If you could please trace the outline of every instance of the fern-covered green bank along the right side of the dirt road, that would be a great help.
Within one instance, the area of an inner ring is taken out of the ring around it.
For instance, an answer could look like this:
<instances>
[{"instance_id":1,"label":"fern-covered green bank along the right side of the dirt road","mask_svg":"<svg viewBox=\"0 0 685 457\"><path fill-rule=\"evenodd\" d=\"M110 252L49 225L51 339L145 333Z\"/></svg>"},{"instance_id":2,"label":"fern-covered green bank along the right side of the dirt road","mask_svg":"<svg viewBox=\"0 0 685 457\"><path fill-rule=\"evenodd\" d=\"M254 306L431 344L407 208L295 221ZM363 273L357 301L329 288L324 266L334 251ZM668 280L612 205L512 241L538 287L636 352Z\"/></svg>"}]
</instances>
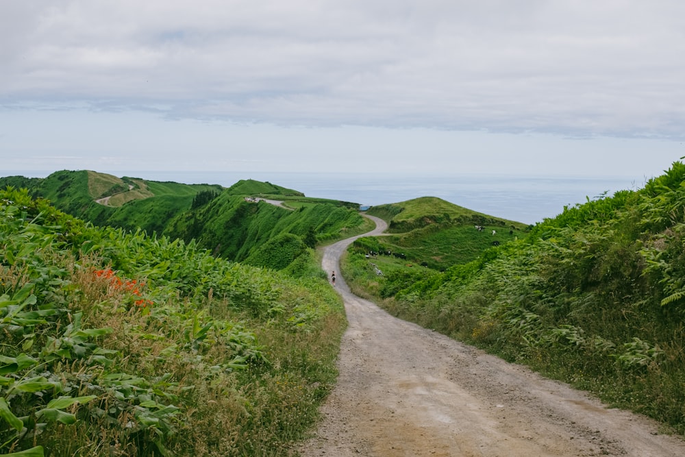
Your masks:
<instances>
[{"instance_id":1,"label":"fern-covered green bank along the right side of the dirt road","mask_svg":"<svg viewBox=\"0 0 685 457\"><path fill-rule=\"evenodd\" d=\"M362 252L384 240L360 240L343 271L353 289L403 319L682 433L684 183L685 165L675 162L641 190L564 208L530 233L444 271L381 264ZM393 207L384 208L386 217L401 214ZM410 219L405 226L421 225L420 216ZM408 254L425 249L411 236L403 236Z\"/></svg>"}]
</instances>

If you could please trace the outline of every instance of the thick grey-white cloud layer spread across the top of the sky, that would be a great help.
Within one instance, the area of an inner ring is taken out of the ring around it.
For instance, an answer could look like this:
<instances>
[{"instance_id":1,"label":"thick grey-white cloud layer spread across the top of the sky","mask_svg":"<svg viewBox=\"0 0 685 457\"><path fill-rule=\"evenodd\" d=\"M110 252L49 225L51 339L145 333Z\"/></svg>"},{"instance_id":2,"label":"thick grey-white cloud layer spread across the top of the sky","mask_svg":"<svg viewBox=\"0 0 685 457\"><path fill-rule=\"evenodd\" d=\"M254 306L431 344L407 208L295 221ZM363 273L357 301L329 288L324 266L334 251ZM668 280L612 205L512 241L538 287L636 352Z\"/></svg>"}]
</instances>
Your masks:
<instances>
[{"instance_id":1,"label":"thick grey-white cloud layer spread across the top of the sky","mask_svg":"<svg viewBox=\"0 0 685 457\"><path fill-rule=\"evenodd\" d=\"M679 1L25 3L0 5L5 106L684 136Z\"/></svg>"}]
</instances>

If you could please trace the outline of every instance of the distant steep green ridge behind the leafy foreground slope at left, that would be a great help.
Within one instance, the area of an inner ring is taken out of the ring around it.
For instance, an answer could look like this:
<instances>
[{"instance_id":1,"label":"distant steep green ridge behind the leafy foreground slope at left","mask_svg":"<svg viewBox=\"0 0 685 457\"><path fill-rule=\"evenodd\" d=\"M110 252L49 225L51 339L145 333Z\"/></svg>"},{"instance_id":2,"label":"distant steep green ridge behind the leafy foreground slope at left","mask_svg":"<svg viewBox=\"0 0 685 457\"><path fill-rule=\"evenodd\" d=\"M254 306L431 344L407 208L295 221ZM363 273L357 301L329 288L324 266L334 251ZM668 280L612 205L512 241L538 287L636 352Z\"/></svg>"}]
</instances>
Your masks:
<instances>
[{"instance_id":1,"label":"distant steep green ridge behind the leafy foreground slope at left","mask_svg":"<svg viewBox=\"0 0 685 457\"><path fill-rule=\"evenodd\" d=\"M311 199L255 180L222 188L58 171L45 179L0 178L0 188L5 184L26 186L34 197L49 199L58 209L95 225L142 230L186 243L197 240L215 256L273 269L288 267L316 243L369 227L356 203ZM285 201L290 210L258 199Z\"/></svg>"}]
</instances>

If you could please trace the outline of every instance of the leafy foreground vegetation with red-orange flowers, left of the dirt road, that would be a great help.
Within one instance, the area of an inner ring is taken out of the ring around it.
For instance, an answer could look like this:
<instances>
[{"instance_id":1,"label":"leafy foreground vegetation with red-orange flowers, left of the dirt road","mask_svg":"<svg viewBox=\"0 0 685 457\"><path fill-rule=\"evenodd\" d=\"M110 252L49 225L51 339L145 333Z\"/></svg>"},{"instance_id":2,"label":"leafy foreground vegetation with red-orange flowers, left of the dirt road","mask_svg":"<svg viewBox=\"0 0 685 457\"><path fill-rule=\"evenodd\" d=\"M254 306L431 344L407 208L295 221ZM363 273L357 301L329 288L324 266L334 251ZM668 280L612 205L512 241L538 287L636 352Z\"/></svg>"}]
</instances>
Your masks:
<instances>
[{"instance_id":1,"label":"leafy foreground vegetation with red-orange flowers, left of the dirt road","mask_svg":"<svg viewBox=\"0 0 685 457\"><path fill-rule=\"evenodd\" d=\"M285 455L336 377L345 317L299 279L0 192L0 452Z\"/></svg>"}]
</instances>

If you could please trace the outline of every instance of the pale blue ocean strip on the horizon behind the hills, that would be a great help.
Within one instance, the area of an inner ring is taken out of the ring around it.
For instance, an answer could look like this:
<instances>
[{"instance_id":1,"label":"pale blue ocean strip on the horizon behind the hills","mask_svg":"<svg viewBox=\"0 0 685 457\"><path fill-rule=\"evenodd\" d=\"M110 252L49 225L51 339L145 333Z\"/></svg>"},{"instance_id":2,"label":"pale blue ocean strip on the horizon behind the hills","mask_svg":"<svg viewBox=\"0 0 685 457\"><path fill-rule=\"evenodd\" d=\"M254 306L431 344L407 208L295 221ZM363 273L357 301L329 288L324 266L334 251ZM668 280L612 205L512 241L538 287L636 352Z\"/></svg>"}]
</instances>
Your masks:
<instances>
[{"instance_id":1,"label":"pale blue ocean strip on the horizon behind the hills","mask_svg":"<svg viewBox=\"0 0 685 457\"><path fill-rule=\"evenodd\" d=\"M253 179L299 190L307 197L338 199L362 206L397 203L418 197L439 197L464 208L534 224L555 217L564 206L584 203L618 190L642 188L634 177L540 177L518 175L432 175L384 173L269 173L220 171L114 171L116 176L153 181L232 186ZM45 177L49 173L7 173ZM6 175L7 175L6 174Z\"/></svg>"}]
</instances>

